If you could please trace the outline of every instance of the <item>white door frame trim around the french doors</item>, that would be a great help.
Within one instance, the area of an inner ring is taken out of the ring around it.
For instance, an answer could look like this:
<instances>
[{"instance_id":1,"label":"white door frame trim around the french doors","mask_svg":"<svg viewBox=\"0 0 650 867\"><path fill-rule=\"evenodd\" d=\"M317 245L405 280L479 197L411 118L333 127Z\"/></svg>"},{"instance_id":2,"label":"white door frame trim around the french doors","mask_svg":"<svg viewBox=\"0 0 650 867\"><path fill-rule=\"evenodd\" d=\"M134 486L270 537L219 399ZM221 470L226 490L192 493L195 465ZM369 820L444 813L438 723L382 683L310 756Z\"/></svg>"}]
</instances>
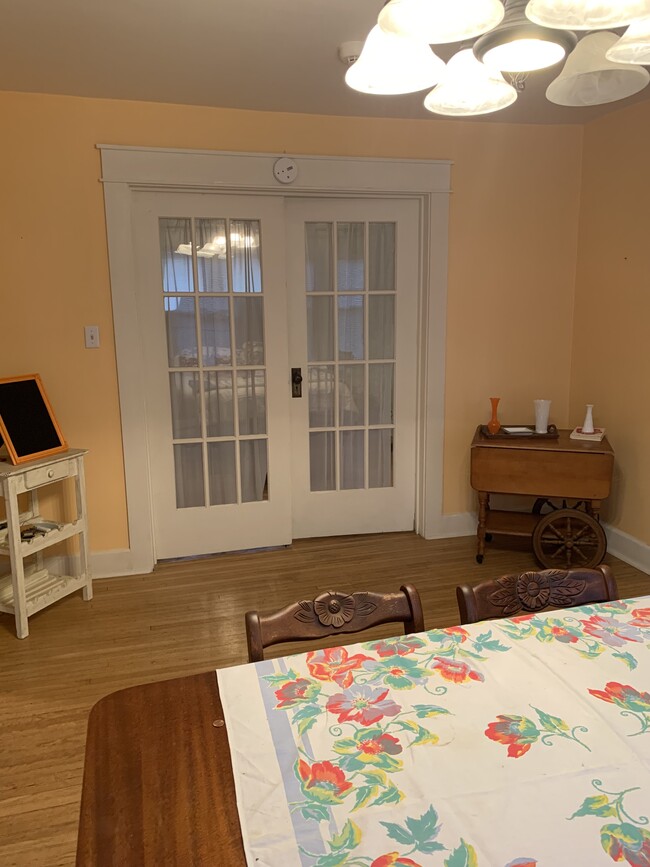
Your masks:
<instances>
[{"instance_id":1,"label":"white door frame trim around the french doors","mask_svg":"<svg viewBox=\"0 0 650 867\"><path fill-rule=\"evenodd\" d=\"M155 564L145 383L136 305L133 195L140 191L219 192L345 198L410 198L419 203L418 406L415 530L443 535L443 420L447 249L451 162L295 155L289 187L273 177L286 154L97 145L101 153L115 350L122 420L131 571Z\"/></svg>"}]
</instances>

